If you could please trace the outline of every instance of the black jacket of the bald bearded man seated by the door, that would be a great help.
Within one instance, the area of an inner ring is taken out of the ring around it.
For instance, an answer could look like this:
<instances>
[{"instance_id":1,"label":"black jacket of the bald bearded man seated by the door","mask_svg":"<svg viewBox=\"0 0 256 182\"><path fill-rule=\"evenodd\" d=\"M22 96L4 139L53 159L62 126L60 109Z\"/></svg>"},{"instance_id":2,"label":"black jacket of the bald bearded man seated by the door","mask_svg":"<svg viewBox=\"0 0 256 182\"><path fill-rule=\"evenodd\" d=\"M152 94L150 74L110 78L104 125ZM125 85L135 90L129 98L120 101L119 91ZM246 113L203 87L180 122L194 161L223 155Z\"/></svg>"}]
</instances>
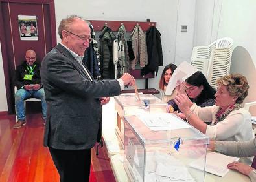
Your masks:
<instances>
[{"instance_id":1,"label":"black jacket of the bald bearded man seated by the door","mask_svg":"<svg viewBox=\"0 0 256 182\"><path fill-rule=\"evenodd\" d=\"M17 89L20 89L24 85L30 85L30 84L40 84L41 85L41 76L40 76L40 66L41 65L40 65L40 63L37 63L37 62L35 62L34 64L36 64L36 67L33 70L34 75L32 76L32 80L23 79L25 74L29 74L29 71L27 70L26 61L24 61L22 65L19 65L16 68L15 76L14 76L14 86L17 86Z\"/></svg>"}]
</instances>

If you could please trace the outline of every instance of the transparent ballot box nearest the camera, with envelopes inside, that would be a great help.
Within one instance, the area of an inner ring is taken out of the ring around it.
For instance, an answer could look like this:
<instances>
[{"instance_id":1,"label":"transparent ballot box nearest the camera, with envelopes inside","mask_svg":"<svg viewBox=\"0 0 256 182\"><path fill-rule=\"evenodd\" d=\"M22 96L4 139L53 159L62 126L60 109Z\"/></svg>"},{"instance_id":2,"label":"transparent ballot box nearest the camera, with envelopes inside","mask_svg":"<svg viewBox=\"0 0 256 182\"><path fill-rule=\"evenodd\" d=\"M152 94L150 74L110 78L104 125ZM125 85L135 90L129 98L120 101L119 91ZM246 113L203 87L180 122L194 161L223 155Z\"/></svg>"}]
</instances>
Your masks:
<instances>
[{"instance_id":1,"label":"transparent ballot box nearest the camera, with envelopes inside","mask_svg":"<svg viewBox=\"0 0 256 182\"><path fill-rule=\"evenodd\" d=\"M130 181L204 181L209 137L174 114L124 116Z\"/></svg>"}]
</instances>

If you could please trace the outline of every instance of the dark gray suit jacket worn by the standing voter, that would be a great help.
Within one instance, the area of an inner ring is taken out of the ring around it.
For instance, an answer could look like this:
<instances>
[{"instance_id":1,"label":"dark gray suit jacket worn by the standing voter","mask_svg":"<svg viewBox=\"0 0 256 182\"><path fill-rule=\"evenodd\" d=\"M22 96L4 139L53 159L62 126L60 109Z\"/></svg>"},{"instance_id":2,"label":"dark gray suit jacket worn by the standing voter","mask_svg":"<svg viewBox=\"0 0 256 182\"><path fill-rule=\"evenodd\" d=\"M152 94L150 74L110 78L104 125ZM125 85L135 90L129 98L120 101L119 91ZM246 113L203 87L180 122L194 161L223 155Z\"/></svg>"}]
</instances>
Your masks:
<instances>
[{"instance_id":1,"label":"dark gray suit jacket worn by the standing voter","mask_svg":"<svg viewBox=\"0 0 256 182\"><path fill-rule=\"evenodd\" d=\"M90 81L78 61L60 44L43 58L41 81L47 101L45 147L92 148L102 117L99 98L119 95L119 82Z\"/></svg>"}]
</instances>

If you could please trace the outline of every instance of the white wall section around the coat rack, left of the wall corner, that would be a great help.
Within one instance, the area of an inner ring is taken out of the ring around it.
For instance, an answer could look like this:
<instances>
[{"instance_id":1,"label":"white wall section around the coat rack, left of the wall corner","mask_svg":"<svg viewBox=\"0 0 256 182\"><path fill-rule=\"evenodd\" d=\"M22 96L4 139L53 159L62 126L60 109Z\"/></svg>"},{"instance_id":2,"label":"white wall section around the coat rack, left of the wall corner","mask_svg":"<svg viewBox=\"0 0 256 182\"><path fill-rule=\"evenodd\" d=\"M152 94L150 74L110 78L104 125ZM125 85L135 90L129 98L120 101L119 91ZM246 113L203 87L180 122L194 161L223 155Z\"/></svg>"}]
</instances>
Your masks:
<instances>
[{"instance_id":1,"label":"white wall section around the coat rack, left of the wall corner","mask_svg":"<svg viewBox=\"0 0 256 182\"><path fill-rule=\"evenodd\" d=\"M175 59L178 4L178 0L163 0L161 3L155 0L77 0L76 3L73 1L64 3L64 1L56 0L56 26L58 27L62 18L71 14L80 15L85 19L117 21L146 21L146 19L150 19L156 21L157 29L161 32L163 65L165 66L174 63ZM71 6L72 8L70 8ZM149 88L157 88L164 66L159 68L159 74L155 79L149 79ZM137 79L137 84L139 88L145 88L144 79Z\"/></svg>"}]
</instances>

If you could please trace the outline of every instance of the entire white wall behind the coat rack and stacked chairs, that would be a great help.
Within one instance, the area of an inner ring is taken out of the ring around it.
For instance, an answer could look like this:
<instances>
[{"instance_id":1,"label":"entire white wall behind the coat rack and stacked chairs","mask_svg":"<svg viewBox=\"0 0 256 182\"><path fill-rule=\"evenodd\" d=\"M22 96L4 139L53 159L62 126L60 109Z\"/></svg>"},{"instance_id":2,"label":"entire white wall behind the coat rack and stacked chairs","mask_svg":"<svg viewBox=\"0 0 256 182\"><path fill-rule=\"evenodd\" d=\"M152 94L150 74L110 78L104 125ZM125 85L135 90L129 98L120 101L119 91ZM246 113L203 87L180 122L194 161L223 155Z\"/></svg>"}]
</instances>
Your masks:
<instances>
[{"instance_id":1,"label":"entire white wall behind the coat rack and stacked chairs","mask_svg":"<svg viewBox=\"0 0 256 182\"><path fill-rule=\"evenodd\" d=\"M248 77L250 94L246 101L256 101L256 95L253 94L256 85L253 82L256 65L255 0L163 0L161 3L154 0L55 0L55 9L57 28L60 20L71 14L81 15L86 19L156 21L157 29L162 34L164 66L189 62L193 46L207 45L220 37L231 37L235 43L231 72L240 72ZM181 25L188 25L187 32L180 32ZM159 68L155 79L149 80L150 88L157 88L164 66ZM6 111L1 55L0 81L0 111ZM137 80L137 83L139 88L144 88L143 79Z\"/></svg>"}]
</instances>

